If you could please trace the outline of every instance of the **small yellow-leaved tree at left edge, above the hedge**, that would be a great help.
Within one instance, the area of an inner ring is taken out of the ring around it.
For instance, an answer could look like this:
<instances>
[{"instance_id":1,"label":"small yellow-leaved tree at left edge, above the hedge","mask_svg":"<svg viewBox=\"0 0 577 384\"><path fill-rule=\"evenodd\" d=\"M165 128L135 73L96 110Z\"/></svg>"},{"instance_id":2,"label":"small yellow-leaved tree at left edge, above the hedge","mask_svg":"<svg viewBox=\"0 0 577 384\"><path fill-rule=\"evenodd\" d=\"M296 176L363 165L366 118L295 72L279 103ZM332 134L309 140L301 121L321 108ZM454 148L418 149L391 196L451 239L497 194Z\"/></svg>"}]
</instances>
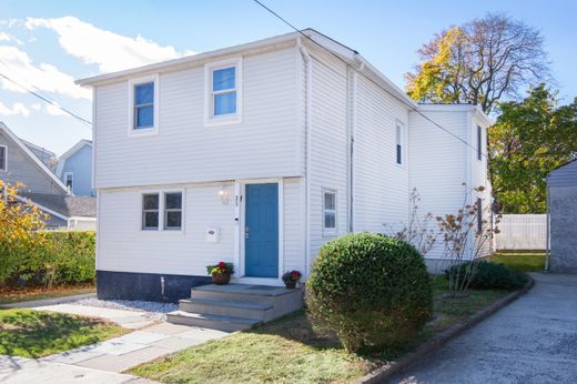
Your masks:
<instances>
[{"instance_id":1,"label":"small yellow-leaved tree at left edge, above the hedge","mask_svg":"<svg viewBox=\"0 0 577 384\"><path fill-rule=\"evenodd\" d=\"M33 231L44 228L48 215L18 198L23 184L0 180L0 284L12 273L20 250L33 241Z\"/></svg>"}]
</instances>

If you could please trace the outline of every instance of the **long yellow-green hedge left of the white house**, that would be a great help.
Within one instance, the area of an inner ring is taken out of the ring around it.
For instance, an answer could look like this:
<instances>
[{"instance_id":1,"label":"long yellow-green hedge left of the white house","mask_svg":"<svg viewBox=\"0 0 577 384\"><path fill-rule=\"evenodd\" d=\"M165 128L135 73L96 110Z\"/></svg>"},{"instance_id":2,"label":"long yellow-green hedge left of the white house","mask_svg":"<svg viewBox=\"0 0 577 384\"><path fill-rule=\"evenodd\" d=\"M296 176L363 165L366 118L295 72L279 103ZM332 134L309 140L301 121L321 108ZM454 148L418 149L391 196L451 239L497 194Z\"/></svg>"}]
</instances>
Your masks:
<instances>
[{"instance_id":1,"label":"long yellow-green hedge left of the white house","mask_svg":"<svg viewBox=\"0 0 577 384\"><path fill-rule=\"evenodd\" d=\"M0 243L0 286L51 286L95 279L94 232L36 232L29 243Z\"/></svg>"}]
</instances>

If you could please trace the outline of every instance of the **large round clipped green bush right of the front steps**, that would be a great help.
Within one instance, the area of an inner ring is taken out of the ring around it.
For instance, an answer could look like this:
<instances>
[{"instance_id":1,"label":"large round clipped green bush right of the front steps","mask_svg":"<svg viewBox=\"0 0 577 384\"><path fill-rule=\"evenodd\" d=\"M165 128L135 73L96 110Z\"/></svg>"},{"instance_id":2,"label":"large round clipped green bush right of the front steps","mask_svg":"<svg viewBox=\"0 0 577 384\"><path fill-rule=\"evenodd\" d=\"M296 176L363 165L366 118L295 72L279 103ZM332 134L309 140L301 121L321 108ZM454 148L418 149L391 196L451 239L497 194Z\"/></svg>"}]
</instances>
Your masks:
<instances>
[{"instance_id":1,"label":"large round clipped green bush right of the front steps","mask_svg":"<svg viewBox=\"0 0 577 384\"><path fill-rule=\"evenodd\" d=\"M353 233L326 243L306 284L308 316L352 352L403 346L433 312L418 252L403 241Z\"/></svg>"}]
</instances>

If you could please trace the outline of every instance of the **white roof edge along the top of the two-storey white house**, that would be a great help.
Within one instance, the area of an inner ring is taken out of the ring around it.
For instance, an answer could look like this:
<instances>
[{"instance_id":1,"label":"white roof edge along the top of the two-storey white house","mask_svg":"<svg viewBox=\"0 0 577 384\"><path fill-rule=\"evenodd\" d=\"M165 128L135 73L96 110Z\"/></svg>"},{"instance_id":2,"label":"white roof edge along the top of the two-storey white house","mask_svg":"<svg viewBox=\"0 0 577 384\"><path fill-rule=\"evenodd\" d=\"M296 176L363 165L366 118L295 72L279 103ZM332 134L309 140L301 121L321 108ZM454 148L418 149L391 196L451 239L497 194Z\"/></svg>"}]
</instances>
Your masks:
<instances>
[{"instance_id":1,"label":"white roof edge along the top of the two-storey white house","mask_svg":"<svg viewBox=\"0 0 577 384\"><path fill-rule=\"evenodd\" d=\"M304 36L304 39L303 39ZM92 78L80 79L77 81L78 84L83 87L94 87L101 85L118 81L128 80L133 78L134 75L146 75L152 73L162 73L162 72L172 72L181 69L194 67L202 64L207 61L212 61L217 57L239 54L241 52L252 52L260 51L267 47L276 47L283 46L287 43L300 44L302 42L308 43L307 40L312 40L313 42L310 44L314 46L318 44L330 52L337 55L340 59L347 62L350 65L355 68L357 71L367 75L372 80L379 83L381 87L393 92L397 98L399 98L403 102L411 105L411 108L416 108L417 103L412 100L401 88L395 85L387 77L381 73L373 64L371 64L366 59L364 59L357 51L315 31L314 29L307 28L298 32L285 33L263 40L257 40L253 42L249 42L245 44L217 49L214 51L209 51L204 53L198 53L193 55L183 57L180 59L168 60L159 63L153 63L149 65L143 65L134 69L129 69L124 71L118 71L112 73L105 73Z\"/></svg>"}]
</instances>

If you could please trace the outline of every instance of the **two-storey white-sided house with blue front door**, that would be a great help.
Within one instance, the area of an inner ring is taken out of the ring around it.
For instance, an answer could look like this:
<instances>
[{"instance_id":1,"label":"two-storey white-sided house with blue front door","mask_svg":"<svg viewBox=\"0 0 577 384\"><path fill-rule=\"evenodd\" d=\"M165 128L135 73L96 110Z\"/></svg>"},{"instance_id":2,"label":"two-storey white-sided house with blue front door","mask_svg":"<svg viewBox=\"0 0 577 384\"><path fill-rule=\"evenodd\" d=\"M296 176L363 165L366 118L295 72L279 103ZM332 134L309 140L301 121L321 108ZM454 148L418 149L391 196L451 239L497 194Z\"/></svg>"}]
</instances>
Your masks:
<instances>
[{"instance_id":1,"label":"two-storey white-sided house with blue front door","mask_svg":"<svg viewBox=\"0 0 577 384\"><path fill-rule=\"evenodd\" d=\"M79 81L94 90L100 297L190 296L221 260L240 283L306 277L325 242L407 222L413 188L423 213L456 212L464 182L488 204L479 108L419 105L303 33L315 42L295 32Z\"/></svg>"}]
</instances>

